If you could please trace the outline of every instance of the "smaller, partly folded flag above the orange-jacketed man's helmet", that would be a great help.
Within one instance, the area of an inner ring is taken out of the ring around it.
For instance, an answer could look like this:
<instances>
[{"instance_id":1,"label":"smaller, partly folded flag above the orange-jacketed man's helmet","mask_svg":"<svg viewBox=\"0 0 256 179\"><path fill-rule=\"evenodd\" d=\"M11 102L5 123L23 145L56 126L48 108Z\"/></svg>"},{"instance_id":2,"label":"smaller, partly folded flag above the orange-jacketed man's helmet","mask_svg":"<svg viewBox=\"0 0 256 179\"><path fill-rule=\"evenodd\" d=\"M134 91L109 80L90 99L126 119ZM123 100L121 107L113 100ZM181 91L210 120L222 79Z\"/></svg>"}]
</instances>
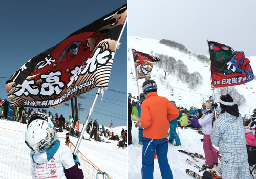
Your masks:
<instances>
[{"instance_id":1,"label":"smaller, partly folded flag above the orange-jacketed man's helmet","mask_svg":"<svg viewBox=\"0 0 256 179\"><path fill-rule=\"evenodd\" d=\"M145 78L145 80L149 80L153 64L160 61L160 59L156 56L142 53L134 49L132 49L132 51L136 70L136 79Z\"/></svg>"}]
</instances>

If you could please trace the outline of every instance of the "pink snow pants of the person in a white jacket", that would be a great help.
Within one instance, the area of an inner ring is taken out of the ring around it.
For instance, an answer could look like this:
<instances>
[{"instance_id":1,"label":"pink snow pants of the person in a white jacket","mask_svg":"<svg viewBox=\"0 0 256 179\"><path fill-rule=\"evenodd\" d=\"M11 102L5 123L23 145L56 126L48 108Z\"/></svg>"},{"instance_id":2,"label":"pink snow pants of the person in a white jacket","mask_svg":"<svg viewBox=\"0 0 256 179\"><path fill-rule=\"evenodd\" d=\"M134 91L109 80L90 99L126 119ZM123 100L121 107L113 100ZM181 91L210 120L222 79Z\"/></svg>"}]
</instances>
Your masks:
<instances>
[{"instance_id":1,"label":"pink snow pants of the person in a white jacket","mask_svg":"<svg viewBox=\"0 0 256 179\"><path fill-rule=\"evenodd\" d=\"M212 146L210 135L204 134L204 154L205 154L205 164L214 165L214 163L218 163L218 156L216 151L214 151L214 147Z\"/></svg>"}]
</instances>

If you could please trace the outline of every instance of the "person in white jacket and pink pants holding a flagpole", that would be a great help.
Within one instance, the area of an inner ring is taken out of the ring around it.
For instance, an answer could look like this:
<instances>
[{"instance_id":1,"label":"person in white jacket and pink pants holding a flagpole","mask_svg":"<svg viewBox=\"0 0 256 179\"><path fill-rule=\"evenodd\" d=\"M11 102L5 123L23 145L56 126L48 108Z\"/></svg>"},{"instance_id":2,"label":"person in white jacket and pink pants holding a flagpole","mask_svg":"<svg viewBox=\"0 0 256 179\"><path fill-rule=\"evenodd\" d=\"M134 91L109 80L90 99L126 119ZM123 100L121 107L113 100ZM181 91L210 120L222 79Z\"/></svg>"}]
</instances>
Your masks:
<instances>
[{"instance_id":1,"label":"person in white jacket and pink pants holding a flagpole","mask_svg":"<svg viewBox=\"0 0 256 179\"><path fill-rule=\"evenodd\" d=\"M210 134L212 130L212 119L214 117L214 113L212 113L211 108L206 107L203 112L203 116L198 119L198 123L202 126L202 132L204 134L204 154L205 154L205 164L203 168L212 169L214 165L218 165L218 156L216 151L214 151L214 147L212 146L210 140Z\"/></svg>"}]
</instances>

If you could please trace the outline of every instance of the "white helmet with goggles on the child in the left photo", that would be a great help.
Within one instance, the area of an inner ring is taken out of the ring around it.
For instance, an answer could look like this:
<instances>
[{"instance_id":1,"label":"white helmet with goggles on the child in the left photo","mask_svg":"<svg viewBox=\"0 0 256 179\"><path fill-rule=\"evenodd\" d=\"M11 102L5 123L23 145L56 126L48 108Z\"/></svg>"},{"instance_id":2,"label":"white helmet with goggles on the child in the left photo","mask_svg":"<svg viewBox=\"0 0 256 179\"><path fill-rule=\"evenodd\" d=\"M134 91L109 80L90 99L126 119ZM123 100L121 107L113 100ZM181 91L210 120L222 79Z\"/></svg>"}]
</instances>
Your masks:
<instances>
[{"instance_id":1,"label":"white helmet with goggles on the child in the left photo","mask_svg":"<svg viewBox=\"0 0 256 179\"><path fill-rule=\"evenodd\" d=\"M34 113L28 119L25 143L39 153L48 151L57 140L57 132L50 117Z\"/></svg>"}]
</instances>

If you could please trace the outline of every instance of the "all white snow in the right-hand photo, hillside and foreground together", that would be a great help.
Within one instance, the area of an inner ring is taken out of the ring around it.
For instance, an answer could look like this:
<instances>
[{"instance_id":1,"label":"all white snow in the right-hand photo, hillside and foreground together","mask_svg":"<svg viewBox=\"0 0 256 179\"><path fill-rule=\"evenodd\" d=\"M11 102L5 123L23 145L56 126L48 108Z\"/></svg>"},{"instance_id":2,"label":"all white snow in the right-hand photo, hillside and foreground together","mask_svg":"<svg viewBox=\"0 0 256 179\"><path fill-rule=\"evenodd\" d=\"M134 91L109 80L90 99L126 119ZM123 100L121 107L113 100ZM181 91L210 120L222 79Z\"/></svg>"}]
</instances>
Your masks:
<instances>
[{"instance_id":1,"label":"all white snow in the right-hand photo, hillside and foreground together","mask_svg":"<svg viewBox=\"0 0 256 179\"><path fill-rule=\"evenodd\" d=\"M164 69L157 68L156 65L153 66L153 70L151 73L151 79L155 80L158 86L158 95L165 96L169 100L174 100L177 106L183 106L189 108L190 106L195 106L197 108L202 108L203 97L205 100L208 100L211 92L210 85L210 73L209 67L205 67L209 65L208 63L201 63L195 57L190 57L186 54L179 52L178 50L172 49L168 46L158 43L158 40L141 38L135 36L128 36L128 92L132 93L132 96L138 96L139 93L142 93L142 84L145 81L144 79L138 80L138 85L135 80L135 68L133 62L133 55L131 48L148 53L153 54L167 54L168 56L174 57L176 60L182 60L189 69L190 73L198 71L203 76L202 84L196 86L194 89L189 91L189 87L187 83L179 81L177 83L177 77L169 74L166 76L166 80L161 83L159 79L159 75L164 75ZM151 53L153 51L153 53ZM207 54L206 52L205 54ZM251 62L252 69L256 70L256 57L247 57ZM161 59L160 59L161 60ZM166 87L168 84L171 87ZM246 89L248 87L248 89ZM254 87L253 89L249 89L249 87ZM239 93L242 93L247 100L246 104L243 106L239 106L239 110L241 115L252 114L252 110L256 108L256 94L252 93L252 91L256 91L256 81L253 80L246 85L236 86ZM138 92L139 88L139 92ZM174 96L170 96L171 89L173 89ZM202 95L200 95L200 93ZM181 96L181 100L179 100L179 95ZM218 97L215 96L215 99L218 101ZM132 99L133 100L133 99ZM186 159L193 161L188 155L184 153L178 152L178 150L186 150L189 152L197 152L199 154L204 155L203 150L203 142L200 139L203 138L203 135L197 133L197 131L192 130L191 128L182 130L181 128L176 129L180 141L181 146L169 145L168 148L168 162L173 172L174 178L191 178L191 176L185 173L186 169L191 169L198 174L203 172L199 172L198 169L186 163ZM129 178L141 178L141 167L142 167L142 145L138 144L138 128L132 127L132 145L128 147L128 156L129 156ZM214 146L215 147L215 146ZM218 147L215 147L218 150ZM154 160L154 178L161 178L159 165L157 163L157 159ZM202 166L205 161L198 159L196 162L199 166ZM220 161L219 161L220 163Z\"/></svg>"}]
</instances>

